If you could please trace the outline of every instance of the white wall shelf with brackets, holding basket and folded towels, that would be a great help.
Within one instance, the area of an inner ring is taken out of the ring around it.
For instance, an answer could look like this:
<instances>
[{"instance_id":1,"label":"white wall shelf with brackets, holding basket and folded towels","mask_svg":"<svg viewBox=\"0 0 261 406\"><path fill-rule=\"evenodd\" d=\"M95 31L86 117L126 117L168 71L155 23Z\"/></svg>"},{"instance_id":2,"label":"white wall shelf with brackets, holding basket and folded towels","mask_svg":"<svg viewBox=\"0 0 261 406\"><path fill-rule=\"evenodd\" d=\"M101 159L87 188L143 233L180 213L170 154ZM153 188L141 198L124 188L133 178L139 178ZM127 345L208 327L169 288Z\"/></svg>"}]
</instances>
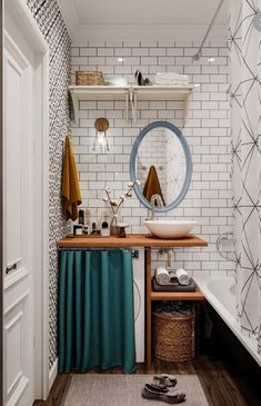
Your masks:
<instances>
[{"instance_id":1,"label":"white wall shelf with brackets, holding basket and folded towels","mask_svg":"<svg viewBox=\"0 0 261 406\"><path fill-rule=\"evenodd\" d=\"M131 106L132 119L135 121L137 105L139 100L172 100L183 101L184 121L188 112L189 97L193 85L188 86L70 86L74 120L79 118L79 101L88 100L124 100L126 119L129 119L129 103Z\"/></svg>"}]
</instances>

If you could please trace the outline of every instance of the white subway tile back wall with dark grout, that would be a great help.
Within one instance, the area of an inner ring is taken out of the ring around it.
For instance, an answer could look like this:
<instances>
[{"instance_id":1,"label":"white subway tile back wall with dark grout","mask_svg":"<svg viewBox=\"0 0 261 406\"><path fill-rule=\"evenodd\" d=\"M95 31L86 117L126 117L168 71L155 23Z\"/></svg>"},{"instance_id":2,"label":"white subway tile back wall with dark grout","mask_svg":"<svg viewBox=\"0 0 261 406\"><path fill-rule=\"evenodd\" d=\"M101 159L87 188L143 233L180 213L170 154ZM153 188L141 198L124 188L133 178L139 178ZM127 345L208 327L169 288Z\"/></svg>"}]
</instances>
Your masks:
<instances>
[{"instance_id":1,"label":"white subway tile back wall with dark grout","mask_svg":"<svg viewBox=\"0 0 261 406\"><path fill-rule=\"evenodd\" d=\"M79 122L72 123L72 142L78 162L82 207L99 221L106 212L104 188L110 185L118 198L127 190L132 145L148 123L167 120L178 126L185 136L192 152L193 176L188 195L168 217L193 219L199 224L194 232L208 240L204 248L174 250L173 268L184 267L190 275L228 275L234 264L217 252L219 234L232 229L231 151L228 49L222 41L209 42L202 58L193 61L197 44L188 41L86 41L72 44L72 83L77 70L102 70L103 73L124 76L134 83L134 72L140 69L153 81L154 73L175 71L189 75L198 83L191 96L184 128L182 102L138 102L137 122L124 120L123 101L81 101ZM209 62L208 57L214 57ZM119 61L118 58L123 58ZM92 151L94 120L106 117L110 122L108 141L110 151ZM135 196L123 204L121 216L130 224L129 232L144 232L143 219L148 210ZM232 247L228 247L232 250ZM153 251L152 268L165 265L165 254Z\"/></svg>"}]
</instances>

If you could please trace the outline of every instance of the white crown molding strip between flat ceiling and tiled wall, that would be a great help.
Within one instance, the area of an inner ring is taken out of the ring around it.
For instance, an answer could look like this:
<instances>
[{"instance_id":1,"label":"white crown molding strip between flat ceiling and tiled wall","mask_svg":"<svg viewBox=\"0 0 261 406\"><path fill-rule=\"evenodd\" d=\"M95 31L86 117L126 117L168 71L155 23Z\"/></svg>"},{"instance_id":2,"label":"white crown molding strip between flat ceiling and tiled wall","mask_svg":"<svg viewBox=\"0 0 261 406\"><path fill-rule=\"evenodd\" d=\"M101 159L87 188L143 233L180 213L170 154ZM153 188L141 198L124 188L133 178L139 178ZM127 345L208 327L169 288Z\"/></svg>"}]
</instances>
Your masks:
<instances>
[{"instance_id":1,"label":"white crown molding strip between flat ceiling and tiled wall","mask_svg":"<svg viewBox=\"0 0 261 406\"><path fill-rule=\"evenodd\" d=\"M72 33L72 40L80 39L122 39L122 40L202 40L207 26L78 26ZM214 26L209 34L209 40L227 40L228 27Z\"/></svg>"}]
</instances>

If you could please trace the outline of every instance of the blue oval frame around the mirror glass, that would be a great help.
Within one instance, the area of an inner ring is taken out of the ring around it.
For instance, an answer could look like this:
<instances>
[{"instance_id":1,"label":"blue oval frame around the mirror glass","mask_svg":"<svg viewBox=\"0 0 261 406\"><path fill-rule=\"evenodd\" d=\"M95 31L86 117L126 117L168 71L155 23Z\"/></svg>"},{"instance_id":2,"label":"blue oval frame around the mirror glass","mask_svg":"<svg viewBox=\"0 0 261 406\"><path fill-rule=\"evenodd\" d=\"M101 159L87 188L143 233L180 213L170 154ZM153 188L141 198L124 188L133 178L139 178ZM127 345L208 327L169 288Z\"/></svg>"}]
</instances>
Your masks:
<instances>
[{"instance_id":1,"label":"blue oval frame around the mirror glass","mask_svg":"<svg viewBox=\"0 0 261 406\"><path fill-rule=\"evenodd\" d=\"M182 186L182 189L181 189L179 196L173 201L171 201L169 205L167 205L164 207L155 207L157 212L167 212L167 211L173 210L183 200L183 198L185 197L185 195L189 190L189 186L190 186L190 181L191 181L191 177L192 177L192 157L191 157L190 148L189 148L189 145L188 145L183 133L180 131L180 129L178 127L175 127L174 125L172 125L171 122L168 122L168 121L154 121L154 122L151 122L150 125L145 126L141 130L141 132L137 137L137 139L132 146L132 150L131 150L130 178L133 182L137 180L137 158L138 158L138 151L139 151L140 143L142 142L143 138L148 135L148 132L150 132L151 130L153 130L158 127L163 127L163 128L169 129L179 138L179 140L182 145L183 151L184 151L184 156L185 156L185 167L187 167L185 179L184 179L184 184ZM140 187L138 185L134 185L133 189L134 189L134 192L135 192L138 199L140 200L140 202L143 206L145 206L148 209L151 210L152 209L151 202L144 198L144 196L142 195L142 191L140 190Z\"/></svg>"}]
</instances>

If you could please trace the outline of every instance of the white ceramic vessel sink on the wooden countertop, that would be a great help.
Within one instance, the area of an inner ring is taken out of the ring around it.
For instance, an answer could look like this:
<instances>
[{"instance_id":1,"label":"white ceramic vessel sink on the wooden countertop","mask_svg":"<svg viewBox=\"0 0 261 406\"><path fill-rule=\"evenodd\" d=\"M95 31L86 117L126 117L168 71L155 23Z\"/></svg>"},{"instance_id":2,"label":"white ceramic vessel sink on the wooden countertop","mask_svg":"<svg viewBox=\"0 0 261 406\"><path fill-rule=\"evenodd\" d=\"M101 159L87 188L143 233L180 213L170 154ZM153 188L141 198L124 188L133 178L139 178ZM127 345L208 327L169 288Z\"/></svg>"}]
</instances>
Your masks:
<instances>
[{"instance_id":1,"label":"white ceramic vessel sink on the wooden countertop","mask_svg":"<svg viewBox=\"0 0 261 406\"><path fill-rule=\"evenodd\" d=\"M182 238L189 234L198 221L187 220L144 220L145 227L160 238Z\"/></svg>"}]
</instances>

